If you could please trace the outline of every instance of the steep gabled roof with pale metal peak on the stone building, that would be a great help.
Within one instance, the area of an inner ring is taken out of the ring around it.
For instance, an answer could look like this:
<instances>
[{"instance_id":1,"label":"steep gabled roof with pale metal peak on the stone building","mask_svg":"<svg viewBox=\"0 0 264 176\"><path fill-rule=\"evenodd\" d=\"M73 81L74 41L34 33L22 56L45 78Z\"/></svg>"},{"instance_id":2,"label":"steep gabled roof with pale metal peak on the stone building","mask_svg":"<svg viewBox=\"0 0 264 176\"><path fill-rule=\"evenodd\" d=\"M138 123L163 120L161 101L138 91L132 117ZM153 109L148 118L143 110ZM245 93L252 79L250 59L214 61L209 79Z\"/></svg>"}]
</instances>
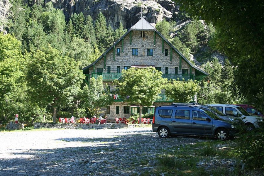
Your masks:
<instances>
[{"instance_id":1,"label":"steep gabled roof with pale metal peak on the stone building","mask_svg":"<svg viewBox=\"0 0 264 176\"><path fill-rule=\"evenodd\" d=\"M144 26L145 25L145 26ZM145 28L149 28L149 29L145 29ZM159 33L148 21L146 21L144 18L141 18L141 20L139 20L134 26L132 26L121 38L119 38L110 48L108 48L97 60L95 60L92 64L88 65L87 67L84 67L82 70L85 71L87 69L89 69L90 67L92 67L94 64L96 64L101 58L104 57L104 55L106 55L115 45L117 45L122 38L124 38L128 33L130 33L130 31L155 31L162 39L164 39L164 41L170 46L172 47L172 49L183 58L183 60L185 60L188 65L190 65L192 68L195 69L195 72L198 75L208 75L207 72L204 72L203 70L195 67L194 65L192 65L192 63L182 55L182 53L180 53L180 51L178 51L161 33ZM196 74L195 74L196 75Z\"/></svg>"}]
</instances>

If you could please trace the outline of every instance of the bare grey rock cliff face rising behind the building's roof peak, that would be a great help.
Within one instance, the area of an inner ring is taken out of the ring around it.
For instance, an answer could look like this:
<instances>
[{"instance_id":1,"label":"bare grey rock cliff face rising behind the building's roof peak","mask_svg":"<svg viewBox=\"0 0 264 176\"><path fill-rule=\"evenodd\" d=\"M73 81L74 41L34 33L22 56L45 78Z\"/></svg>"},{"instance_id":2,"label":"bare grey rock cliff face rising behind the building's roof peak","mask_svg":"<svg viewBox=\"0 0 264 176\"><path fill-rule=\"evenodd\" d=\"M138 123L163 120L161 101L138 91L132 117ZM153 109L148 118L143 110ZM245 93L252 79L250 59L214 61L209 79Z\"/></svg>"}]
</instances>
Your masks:
<instances>
[{"instance_id":1,"label":"bare grey rock cliff face rising behind the building's roof peak","mask_svg":"<svg viewBox=\"0 0 264 176\"><path fill-rule=\"evenodd\" d=\"M45 0L45 4L49 1L56 9L63 10L66 19L79 12L96 19L98 13L102 12L113 28L117 28L119 22L125 28L130 28L141 17L141 10L142 16L150 23L172 18L176 11L175 3L171 0Z\"/></svg>"}]
</instances>

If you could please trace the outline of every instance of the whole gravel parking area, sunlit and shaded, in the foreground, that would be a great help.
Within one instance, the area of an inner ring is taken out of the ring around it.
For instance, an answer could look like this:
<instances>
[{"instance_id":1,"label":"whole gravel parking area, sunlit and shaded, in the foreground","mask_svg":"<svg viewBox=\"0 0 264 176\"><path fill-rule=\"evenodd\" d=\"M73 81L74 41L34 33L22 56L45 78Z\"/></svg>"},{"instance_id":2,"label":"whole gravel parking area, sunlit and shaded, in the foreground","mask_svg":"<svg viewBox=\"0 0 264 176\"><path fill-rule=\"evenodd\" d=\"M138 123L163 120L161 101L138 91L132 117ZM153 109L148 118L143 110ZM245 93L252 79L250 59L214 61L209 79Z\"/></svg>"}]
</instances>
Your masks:
<instances>
[{"instance_id":1,"label":"whole gravel parking area, sunlit and shaded, in the foreground","mask_svg":"<svg viewBox=\"0 0 264 176\"><path fill-rule=\"evenodd\" d=\"M204 141L160 139L148 128L0 133L0 175L141 175L166 150Z\"/></svg>"}]
</instances>

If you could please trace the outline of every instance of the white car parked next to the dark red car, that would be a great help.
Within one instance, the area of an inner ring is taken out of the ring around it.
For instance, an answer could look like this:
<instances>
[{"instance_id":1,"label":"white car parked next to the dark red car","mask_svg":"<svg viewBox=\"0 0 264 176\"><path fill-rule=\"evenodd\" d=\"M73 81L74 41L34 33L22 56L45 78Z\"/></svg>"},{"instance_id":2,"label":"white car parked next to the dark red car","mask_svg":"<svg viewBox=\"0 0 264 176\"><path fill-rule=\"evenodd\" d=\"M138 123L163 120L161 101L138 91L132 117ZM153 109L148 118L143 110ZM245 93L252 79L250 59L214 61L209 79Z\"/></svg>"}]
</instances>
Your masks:
<instances>
[{"instance_id":1,"label":"white car parked next to the dark red car","mask_svg":"<svg viewBox=\"0 0 264 176\"><path fill-rule=\"evenodd\" d=\"M243 109L240 106L231 105L231 104L208 104L208 105L218 109L219 111L221 111L226 115L241 118L248 127L248 130L253 130L253 128L260 128L260 126L264 126L262 117L248 114L248 112L245 111L245 109Z\"/></svg>"}]
</instances>

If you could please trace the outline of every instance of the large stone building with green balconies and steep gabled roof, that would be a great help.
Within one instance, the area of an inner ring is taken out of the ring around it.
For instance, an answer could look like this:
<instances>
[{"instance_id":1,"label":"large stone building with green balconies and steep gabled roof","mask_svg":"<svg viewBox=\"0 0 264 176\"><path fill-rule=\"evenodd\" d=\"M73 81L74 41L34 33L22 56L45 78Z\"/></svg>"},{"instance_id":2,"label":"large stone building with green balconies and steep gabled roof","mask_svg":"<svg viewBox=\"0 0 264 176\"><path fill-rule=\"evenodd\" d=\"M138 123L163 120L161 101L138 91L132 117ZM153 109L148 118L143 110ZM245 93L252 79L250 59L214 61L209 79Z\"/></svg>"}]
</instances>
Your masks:
<instances>
[{"instance_id":1,"label":"large stone building with green balconies and steep gabled roof","mask_svg":"<svg viewBox=\"0 0 264 176\"><path fill-rule=\"evenodd\" d=\"M132 26L114 45L106 50L91 65L84 67L85 81L98 76L103 77L103 82L108 84L110 92L116 90L114 79L121 77L122 70L130 67L155 67L163 72L163 78L188 80L202 79L208 74L187 60L171 43L166 40L145 19L141 19ZM104 109L109 119L128 118L133 113L139 113L139 107L127 105L118 95L113 95L114 104ZM167 99L165 94L159 94L153 106L143 107L143 114L154 112L156 106L168 105L172 99Z\"/></svg>"}]
</instances>

